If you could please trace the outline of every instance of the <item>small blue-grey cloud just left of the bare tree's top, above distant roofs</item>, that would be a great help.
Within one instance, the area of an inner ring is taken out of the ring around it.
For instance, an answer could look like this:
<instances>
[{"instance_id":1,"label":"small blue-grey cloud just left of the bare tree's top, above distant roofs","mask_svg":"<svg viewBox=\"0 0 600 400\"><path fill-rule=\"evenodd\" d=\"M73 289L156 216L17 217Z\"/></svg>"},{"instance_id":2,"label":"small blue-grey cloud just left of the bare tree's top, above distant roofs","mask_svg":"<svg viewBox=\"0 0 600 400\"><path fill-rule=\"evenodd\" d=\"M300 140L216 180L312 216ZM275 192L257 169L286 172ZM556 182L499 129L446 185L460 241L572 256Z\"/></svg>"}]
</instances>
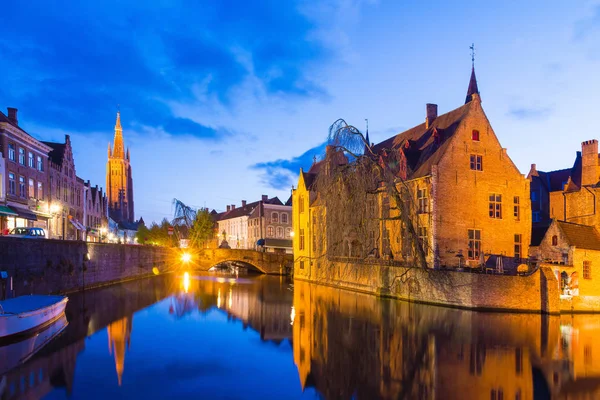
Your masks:
<instances>
[{"instance_id":1,"label":"small blue-grey cloud just left of the bare tree's top, above distant roofs","mask_svg":"<svg viewBox=\"0 0 600 400\"><path fill-rule=\"evenodd\" d=\"M261 181L277 190L290 188L296 184L296 178L300 168L305 171L310 168L315 159L319 159L325 153L326 143L311 148L298 157L289 160L278 159L275 161L261 162L250 168L261 171Z\"/></svg>"}]
</instances>

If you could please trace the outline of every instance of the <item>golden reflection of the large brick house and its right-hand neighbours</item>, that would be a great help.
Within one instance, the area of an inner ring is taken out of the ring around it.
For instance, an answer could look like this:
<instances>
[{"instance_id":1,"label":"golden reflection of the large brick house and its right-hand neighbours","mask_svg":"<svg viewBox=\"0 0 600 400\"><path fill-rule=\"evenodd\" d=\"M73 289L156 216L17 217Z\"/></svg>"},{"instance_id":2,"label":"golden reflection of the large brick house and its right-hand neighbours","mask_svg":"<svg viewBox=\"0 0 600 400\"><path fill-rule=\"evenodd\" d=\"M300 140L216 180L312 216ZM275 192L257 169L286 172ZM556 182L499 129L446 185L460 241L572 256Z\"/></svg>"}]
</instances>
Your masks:
<instances>
[{"instance_id":1,"label":"golden reflection of the large brick house and its right-hand neighbours","mask_svg":"<svg viewBox=\"0 0 600 400\"><path fill-rule=\"evenodd\" d=\"M300 383L327 399L600 398L600 316L475 313L294 285Z\"/></svg>"}]
</instances>

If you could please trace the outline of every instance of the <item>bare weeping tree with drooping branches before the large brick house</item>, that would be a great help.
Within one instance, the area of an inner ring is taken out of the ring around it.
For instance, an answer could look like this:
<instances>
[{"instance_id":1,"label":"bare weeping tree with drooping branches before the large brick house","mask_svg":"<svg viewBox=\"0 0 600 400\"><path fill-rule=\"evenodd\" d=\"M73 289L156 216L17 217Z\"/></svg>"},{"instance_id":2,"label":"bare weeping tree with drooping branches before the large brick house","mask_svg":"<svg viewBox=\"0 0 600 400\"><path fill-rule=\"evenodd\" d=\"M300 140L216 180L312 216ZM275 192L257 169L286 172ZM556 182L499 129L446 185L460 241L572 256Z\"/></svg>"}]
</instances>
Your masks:
<instances>
[{"instance_id":1,"label":"bare weeping tree with drooping branches before the large brick house","mask_svg":"<svg viewBox=\"0 0 600 400\"><path fill-rule=\"evenodd\" d=\"M419 236L420 220L414 187L401 146L379 147L343 119L329 128L327 152L315 190L323 224L322 255L327 257L394 259L401 246L404 266L427 267L428 240ZM347 158L350 162L347 162ZM396 241L392 243L391 239Z\"/></svg>"}]
</instances>

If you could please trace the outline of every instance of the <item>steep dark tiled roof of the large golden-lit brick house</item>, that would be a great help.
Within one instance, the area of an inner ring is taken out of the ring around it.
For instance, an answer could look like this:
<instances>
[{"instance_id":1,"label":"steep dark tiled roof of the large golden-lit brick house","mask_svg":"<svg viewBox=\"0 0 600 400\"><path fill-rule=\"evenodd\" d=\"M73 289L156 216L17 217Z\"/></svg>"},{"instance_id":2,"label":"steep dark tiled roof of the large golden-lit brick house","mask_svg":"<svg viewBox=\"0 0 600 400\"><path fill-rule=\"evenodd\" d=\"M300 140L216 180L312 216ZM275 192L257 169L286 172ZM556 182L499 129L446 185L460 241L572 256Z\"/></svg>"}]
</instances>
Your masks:
<instances>
[{"instance_id":1,"label":"steep dark tiled roof of the large golden-lit brick house","mask_svg":"<svg viewBox=\"0 0 600 400\"><path fill-rule=\"evenodd\" d=\"M384 149L402 148L409 170L407 178L429 175L431 167L442 159L450 139L471 107L473 102L438 116L429 127L422 123L399 133L373 146L373 151L380 153Z\"/></svg>"}]
</instances>

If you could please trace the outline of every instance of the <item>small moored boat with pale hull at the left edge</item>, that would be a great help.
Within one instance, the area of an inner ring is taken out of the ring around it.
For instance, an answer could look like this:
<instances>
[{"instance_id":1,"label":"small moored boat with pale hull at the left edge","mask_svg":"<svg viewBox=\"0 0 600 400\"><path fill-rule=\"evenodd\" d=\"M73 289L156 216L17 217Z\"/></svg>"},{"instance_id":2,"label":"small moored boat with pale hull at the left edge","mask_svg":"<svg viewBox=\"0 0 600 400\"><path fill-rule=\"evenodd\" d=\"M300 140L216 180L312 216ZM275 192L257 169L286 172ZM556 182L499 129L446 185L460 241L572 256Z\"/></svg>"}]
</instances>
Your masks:
<instances>
[{"instance_id":1,"label":"small moored boat with pale hull at the left edge","mask_svg":"<svg viewBox=\"0 0 600 400\"><path fill-rule=\"evenodd\" d=\"M20 296L0 301L0 341L42 329L60 318L69 299L66 296Z\"/></svg>"}]
</instances>

